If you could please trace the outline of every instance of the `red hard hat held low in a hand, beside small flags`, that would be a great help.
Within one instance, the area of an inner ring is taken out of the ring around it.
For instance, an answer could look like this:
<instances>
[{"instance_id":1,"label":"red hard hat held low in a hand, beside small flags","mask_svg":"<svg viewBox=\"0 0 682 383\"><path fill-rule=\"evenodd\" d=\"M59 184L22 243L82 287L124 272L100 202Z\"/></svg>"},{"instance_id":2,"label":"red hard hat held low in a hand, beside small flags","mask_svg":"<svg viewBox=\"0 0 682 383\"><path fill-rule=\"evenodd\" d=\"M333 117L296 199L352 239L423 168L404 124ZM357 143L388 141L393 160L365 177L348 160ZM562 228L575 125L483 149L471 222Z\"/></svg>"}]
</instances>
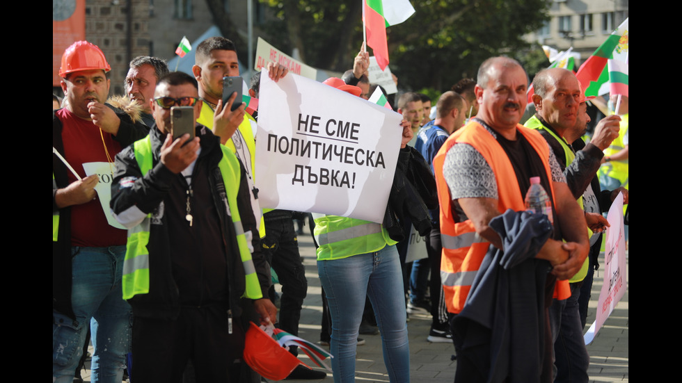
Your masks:
<instances>
[{"instance_id":1,"label":"red hard hat held low in a hand, beside small flags","mask_svg":"<svg viewBox=\"0 0 682 383\"><path fill-rule=\"evenodd\" d=\"M303 364L253 322L244 343L244 361L265 379L283 380L294 368Z\"/></svg>"}]
</instances>

